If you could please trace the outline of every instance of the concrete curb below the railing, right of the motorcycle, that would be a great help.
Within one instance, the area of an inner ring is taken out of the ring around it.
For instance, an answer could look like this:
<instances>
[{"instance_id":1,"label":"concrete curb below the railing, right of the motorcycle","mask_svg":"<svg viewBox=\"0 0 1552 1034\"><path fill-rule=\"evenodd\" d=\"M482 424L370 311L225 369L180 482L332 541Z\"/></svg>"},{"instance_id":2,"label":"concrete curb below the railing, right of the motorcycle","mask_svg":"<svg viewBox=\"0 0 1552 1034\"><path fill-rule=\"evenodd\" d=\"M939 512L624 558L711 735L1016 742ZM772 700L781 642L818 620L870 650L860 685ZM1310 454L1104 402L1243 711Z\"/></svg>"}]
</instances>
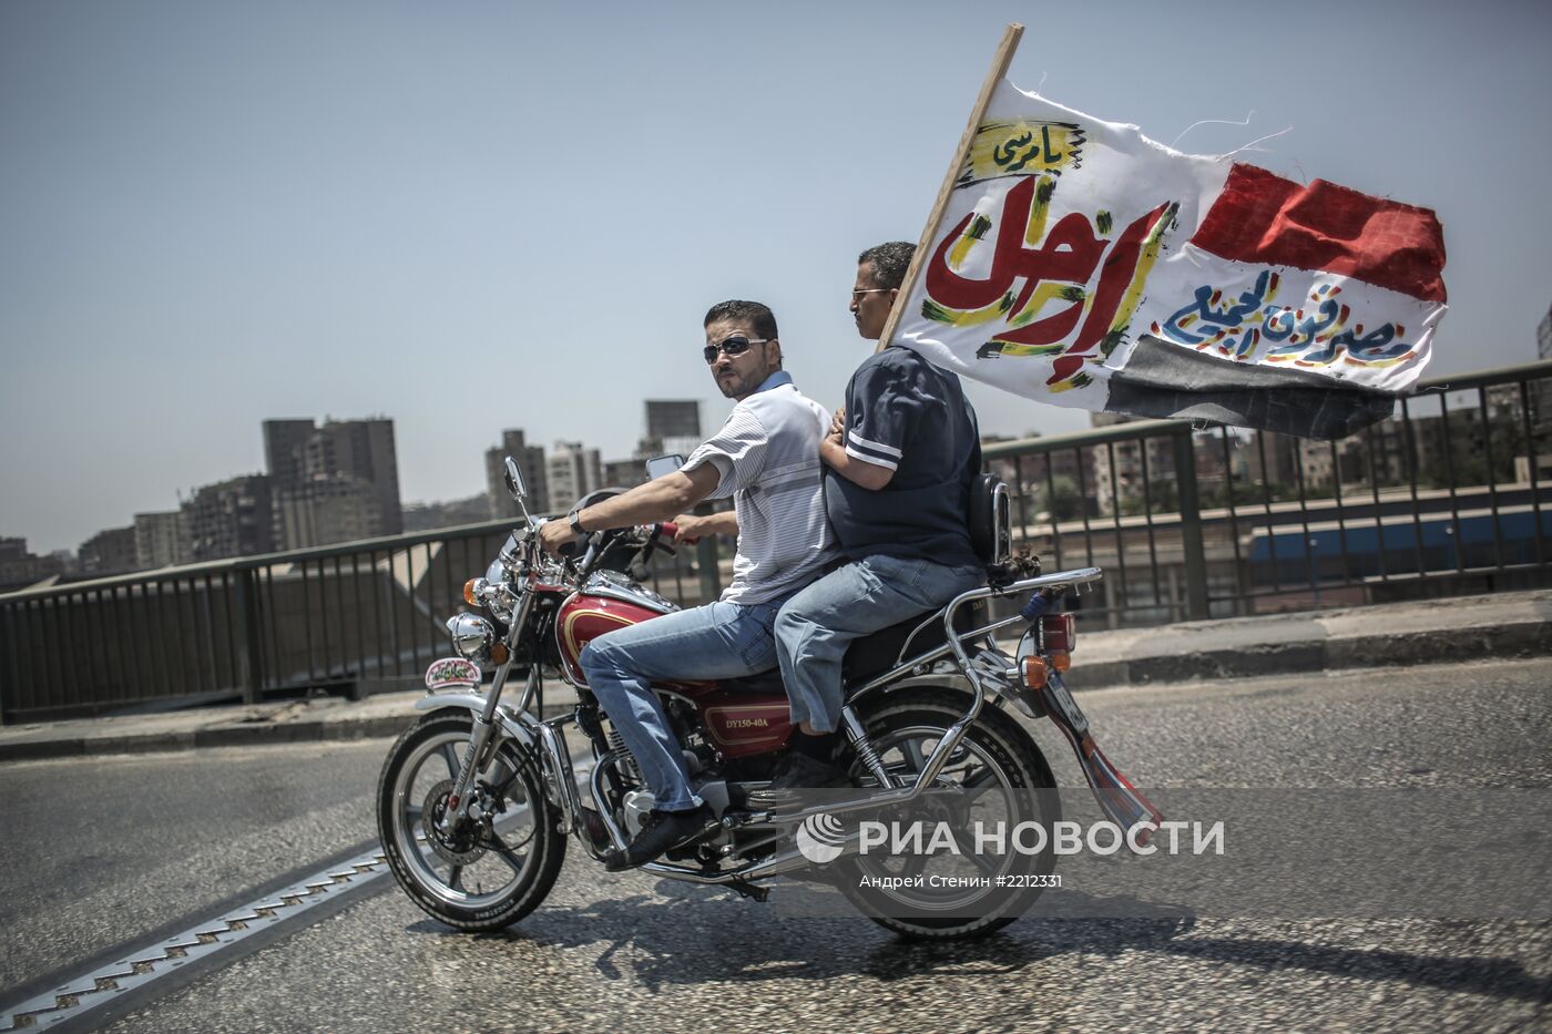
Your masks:
<instances>
[{"instance_id":1,"label":"concrete curb below the railing, right of the motorcycle","mask_svg":"<svg viewBox=\"0 0 1552 1034\"><path fill-rule=\"evenodd\" d=\"M1071 689L1113 689L1211 678L1297 675L1319 671L1397 668L1428 660L1521 660L1552 655L1552 623L1476 626L1429 632L1344 635L1262 647L1189 651L1159 657L1083 664Z\"/></svg>"}]
</instances>

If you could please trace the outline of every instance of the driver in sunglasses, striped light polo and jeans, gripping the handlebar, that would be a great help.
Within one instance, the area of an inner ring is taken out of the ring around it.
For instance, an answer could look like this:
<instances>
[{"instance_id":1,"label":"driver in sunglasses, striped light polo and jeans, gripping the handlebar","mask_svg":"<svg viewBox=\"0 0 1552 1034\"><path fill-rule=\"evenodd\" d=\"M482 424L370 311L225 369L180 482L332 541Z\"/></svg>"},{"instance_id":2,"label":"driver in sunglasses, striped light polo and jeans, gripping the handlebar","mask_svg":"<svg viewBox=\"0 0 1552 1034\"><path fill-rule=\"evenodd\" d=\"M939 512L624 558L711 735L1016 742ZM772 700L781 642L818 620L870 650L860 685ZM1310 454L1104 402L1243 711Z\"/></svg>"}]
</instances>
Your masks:
<instances>
[{"instance_id":1,"label":"driver in sunglasses, striped light polo and jeans, gripping the handlebar","mask_svg":"<svg viewBox=\"0 0 1552 1034\"><path fill-rule=\"evenodd\" d=\"M706 498L733 497L739 548L733 582L715 602L593 640L580 655L587 682L652 789L653 809L629 848L605 866L638 866L700 834L714 815L689 782L653 678L734 678L776 666L771 633L781 604L835 559L819 480L819 439L830 418L781 368L776 317L754 301L725 301L705 318L705 359L717 388L737 401L722 430L674 474L574 509L540 531L551 554L577 536L674 519Z\"/></svg>"}]
</instances>

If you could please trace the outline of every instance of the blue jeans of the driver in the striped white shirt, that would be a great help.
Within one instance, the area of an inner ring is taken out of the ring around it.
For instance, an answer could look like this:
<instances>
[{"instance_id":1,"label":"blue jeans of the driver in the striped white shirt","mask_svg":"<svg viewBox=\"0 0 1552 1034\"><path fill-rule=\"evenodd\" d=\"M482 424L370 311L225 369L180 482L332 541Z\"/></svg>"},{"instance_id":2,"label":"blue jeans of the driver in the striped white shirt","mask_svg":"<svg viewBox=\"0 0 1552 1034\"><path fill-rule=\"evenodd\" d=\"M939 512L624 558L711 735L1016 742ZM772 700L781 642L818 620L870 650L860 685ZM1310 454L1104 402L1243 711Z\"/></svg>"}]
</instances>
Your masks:
<instances>
[{"instance_id":1,"label":"blue jeans of the driver in the striped white shirt","mask_svg":"<svg viewBox=\"0 0 1552 1034\"><path fill-rule=\"evenodd\" d=\"M782 599L742 605L711 602L607 632L582 649L587 685L630 748L655 807L684 812L702 800L652 682L739 678L776 666L771 626Z\"/></svg>"}]
</instances>

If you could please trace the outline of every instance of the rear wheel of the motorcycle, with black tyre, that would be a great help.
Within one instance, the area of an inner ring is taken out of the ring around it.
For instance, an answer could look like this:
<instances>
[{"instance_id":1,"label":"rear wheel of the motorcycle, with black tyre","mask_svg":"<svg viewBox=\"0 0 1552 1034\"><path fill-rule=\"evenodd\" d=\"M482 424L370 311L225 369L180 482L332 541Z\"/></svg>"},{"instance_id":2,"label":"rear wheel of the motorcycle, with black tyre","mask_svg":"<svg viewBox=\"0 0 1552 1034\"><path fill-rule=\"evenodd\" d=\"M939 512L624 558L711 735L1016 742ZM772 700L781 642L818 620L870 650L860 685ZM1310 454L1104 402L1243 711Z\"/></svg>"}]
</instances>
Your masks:
<instances>
[{"instance_id":1,"label":"rear wheel of the motorcycle, with black tyre","mask_svg":"<svg viewBox=\"0 0 1552 1034\"><path fill-rule=\"evenodd\" d=\"M970 696L962 689L945 686L916 688L891 692L878 699L861 717L885 767L897 779L909 782L922 772L925 758L937 741L968 710ZM874 782L861 769L852 773L858 782ZM1034 739L1012 717L990 703L981 710L975 723L965 730L964 739L937 776L937 784L961 784L984 790L973 795L981 804L990 804L998 815L981 815L981 821L1004 821L1009 829L1017 823L1038 821L1046 829L1062 818L1062 801L1055 790L1055 776ZM923 820L928 828L933 806L909 806L903 823ZM951 821L964 826L967 815ZM888 821L888 818L886 818ZM930 837L931 834L925 834ZM956 832L962 840L962 835ZM925 837L923 837L925 840ZM962 845L968 848L968 845ZM979 865L987 865L982 869ZM944 868L947 865L947 868ZM993 880L990 888L965 888L959 893L917 893L914 890L889 891L864 887L864 877L914 879L942 869L942 877L965 876ZM1040 887L995 887L996 877L1023 883L1029 876L1049 877L1055 869L1055 854L1048 848L1037 855L1009 854L989 862L986 857L965 851L962 859L937 855L922 859L916 854L850 855L837 874L841 893L878 925L920 941L970 939L1001 930L1021 916L1040 896ZM1037 882L1038 880L1032 880ZM990 891L990 893L987 893Z\"/></svg>"}]
</instances>

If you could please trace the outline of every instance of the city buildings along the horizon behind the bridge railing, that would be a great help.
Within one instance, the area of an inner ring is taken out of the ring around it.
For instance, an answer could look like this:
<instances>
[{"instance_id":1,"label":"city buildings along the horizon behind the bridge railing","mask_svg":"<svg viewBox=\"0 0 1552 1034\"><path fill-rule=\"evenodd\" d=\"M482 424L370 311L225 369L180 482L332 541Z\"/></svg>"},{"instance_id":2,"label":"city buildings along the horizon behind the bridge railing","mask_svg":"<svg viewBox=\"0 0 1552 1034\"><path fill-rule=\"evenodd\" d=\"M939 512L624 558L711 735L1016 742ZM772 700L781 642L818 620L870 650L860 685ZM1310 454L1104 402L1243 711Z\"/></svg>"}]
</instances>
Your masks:
<instances>
[{"instance_id":1,"label":"city buildings along the horizon behind the bridge railing","mask_svg":"<svg viewBox=\"0 0 1552 1034\"><path fill-rule=\"evenodd\" d=\"M1549 379L1552 383L1552 379ZM1451 397L1454 396L1454 397ZM1384 421L1363 435L1333 442L1304 439L1268 432L1229 432L1218 442L1214 430L1198 430L1192 435L1195 480L1200 483L1200 505L1204 511L1226 505L1232 495L1237 501L1254 501L1260 492L1270 505L1273 498L1288 500L1327 498L1338 500L1346 491L1367 486L1372 491L1405 486L1411 483L1431 489L1454 492L1459 486L1524 488L1536 481L1552 480L1552 416L1546 408L1546 393L1530 383L1529 394L1512 385L1488 388L1485 402L1470 402L1470 393L1434 394L1420 399L1405 425L1401 421ZM1485 407L1485 408L1482 408ZM1523 408L1529 407L1529 408ZM405 531L431 531L453 528L484 520L511 520L520 512L504 486L504 460L514 456L520 466L531 470L525 475L528 486L528 512L563 511L582 494L599 488L627 489L639 484L644 477L644 458L656 452L658 435L666 430L689 432L698 429L698 405L689 401L646 401L646 427L649 430L638 442L636 455L627 460L604 461L598 449L585 442L556 441L554 453L546 455L542 446L528 446L521 429L506 429L497 446L484 453L486 489L453 500L428 500L404 505ZM656 413L655 413L656 410ZM1111 413L1093 415L1094 427L1127 424L1138 418ZM0 585L16 587L22 581L37 581L51 574L109 576L135 570L171 567L200 559L223 559L272 551L287 551L315 545L331 545L390 534L383 526L349 526L349 520L362 515L349 503L369 491L371 481L383 474L382 456L374 466L369 455L348 455L349 441L363 438L376 425L377 433L393 439L393 421L374 416L366 421L329 419L317 425L307 419L264 421L267 469L264 474L248 474L228 478L217 484L194 489L188 500L180 498L178 511L135 514L133 525L104 528L81 543L71 562L61 562L57 550L39 554L26 548L25 537L0 536ZM658 435L652 432L656 430ZM1228 429L1226 429L1228 430ZM1527 438L1529 432L1529 438ZM698 436L698 433L697 433ZM340 444L320 449L320 444L335 438ZM1007 441L998 435L984 435L986 444ZM1173 511L1178 497L1172 486L1173 446L1167 438L1121 439L1108 449L1093 447L1080 456L1080 449L1055 449L1041 453L1038 470L1020 474L1006 460L993 460L992 469L1009 484L1024 484L1051 512L1052 517L1069 520L1077 514L1105 519L1117 512L1136 515L1150 508ZM1221 449L1221 455L1220 455ZM1270 452L1268 452L1270 450ZM293 463L287 463L287 453ZM341 453L343 463L341 463ZM1268 464L1270 455L1270 464ZM306 456L306 460L303 460ZM327 458L326 466L320 456ZM391 480L391 452L388 474ZM1150 480L1150 467L1166 472ZM354 470L354 474L351 474ZM537 477L535 474L537 472ZM321 508L314 515L317 526L335 528L334 534L317 540L293 540L293 531L286 526L287 486L312 477L320 484L331 486L340 477L357 481L357 491L348 494L346 509L329 512L335 500L324 497L307 500ZM1054 478L1054 480L1051 480ZM1234 480L1238 484L1229 489ZM1464 478L1464 480L1462 480ZM549 495L548 484L556 484L557 498ZM1159 486L1162 494L1159 494ZM1086 489L1083 488L1086 486ZM273 495L273 512L270 497ZM393 500L397 508L397 498ZM233 508L245 506L251 517L233 523ZM408 525L416 512L416 523ZM376 509L372 511L376 514ZM272 522L267 520L273 515ZM244 531L247 528L247 531ZM256 536L237 540L239 536ZM265 540L268 536L268 540ZM219 542L217 548L211 548ZM37 565L43 567L39 568Z\"/></svg>"}]
</instances>

